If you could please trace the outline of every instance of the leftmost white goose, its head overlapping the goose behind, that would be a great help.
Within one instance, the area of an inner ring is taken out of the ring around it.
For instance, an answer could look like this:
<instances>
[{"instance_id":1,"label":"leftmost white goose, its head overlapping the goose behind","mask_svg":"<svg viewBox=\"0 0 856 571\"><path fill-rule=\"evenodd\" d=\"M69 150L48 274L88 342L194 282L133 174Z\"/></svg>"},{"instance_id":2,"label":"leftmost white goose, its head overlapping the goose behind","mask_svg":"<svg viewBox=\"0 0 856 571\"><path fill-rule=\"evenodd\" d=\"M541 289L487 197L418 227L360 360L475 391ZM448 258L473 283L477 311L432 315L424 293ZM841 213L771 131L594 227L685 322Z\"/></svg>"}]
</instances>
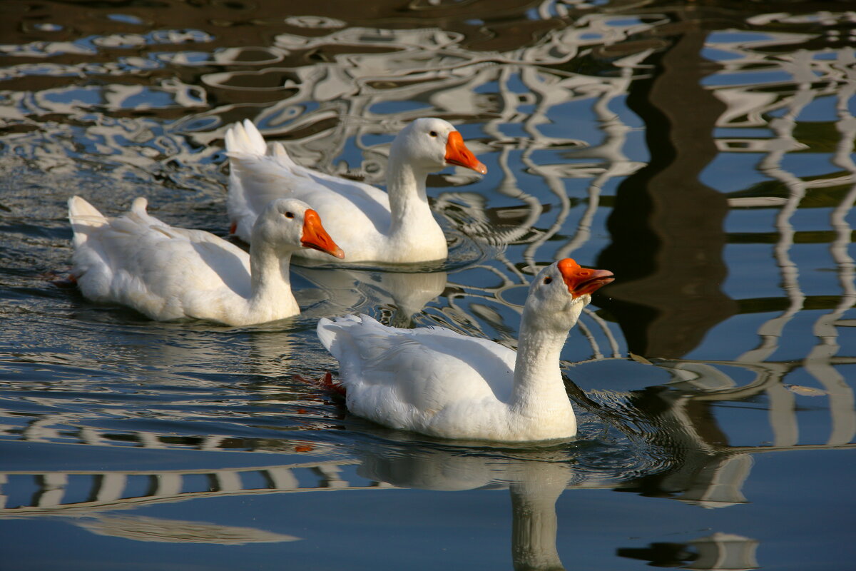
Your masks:
<instances>
[{"instance_id":1,"label":"leftmost white goose, its head overlapping the goose behind","mask_svg":"<svg viewBox=\"0 0 856 571\"><path fill-rule=\"evenodd\" d=\"M318 213L278 199L253 226L250 253L205 232L173 228L134 200L107 218L79 196L68 199L74 229L72 278L89 299L121 303L158 321L199 318L228 325L264 323L300 313L288 260L300 247L342 258Z\"/></svg>"}]
</instances>

